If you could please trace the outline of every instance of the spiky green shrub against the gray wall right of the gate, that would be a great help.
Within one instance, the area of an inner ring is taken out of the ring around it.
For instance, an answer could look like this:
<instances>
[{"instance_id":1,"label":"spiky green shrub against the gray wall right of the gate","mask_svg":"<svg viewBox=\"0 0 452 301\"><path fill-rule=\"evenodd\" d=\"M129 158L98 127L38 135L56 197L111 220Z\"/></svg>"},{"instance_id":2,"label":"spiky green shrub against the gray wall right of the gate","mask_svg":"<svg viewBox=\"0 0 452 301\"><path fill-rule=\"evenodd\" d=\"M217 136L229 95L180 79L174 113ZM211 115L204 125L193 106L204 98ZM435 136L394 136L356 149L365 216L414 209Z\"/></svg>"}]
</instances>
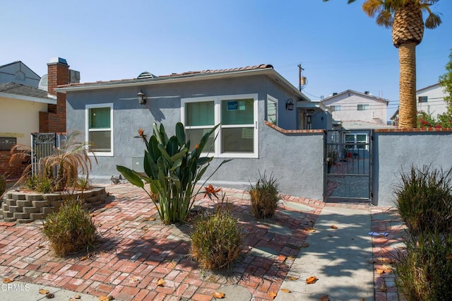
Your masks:
<instances>
[{"instance_id":1,"label":"spiky green shrub against the gray wall right of the gate","mask_svg":"<svg viewBox=\"0 0 452 301\"><path fill-rule=\"evenodd\" d=\"M396 188L396 206L412 235L425 230L452 231L451 172L412 166Z\"/></svg>"}]
</instances>

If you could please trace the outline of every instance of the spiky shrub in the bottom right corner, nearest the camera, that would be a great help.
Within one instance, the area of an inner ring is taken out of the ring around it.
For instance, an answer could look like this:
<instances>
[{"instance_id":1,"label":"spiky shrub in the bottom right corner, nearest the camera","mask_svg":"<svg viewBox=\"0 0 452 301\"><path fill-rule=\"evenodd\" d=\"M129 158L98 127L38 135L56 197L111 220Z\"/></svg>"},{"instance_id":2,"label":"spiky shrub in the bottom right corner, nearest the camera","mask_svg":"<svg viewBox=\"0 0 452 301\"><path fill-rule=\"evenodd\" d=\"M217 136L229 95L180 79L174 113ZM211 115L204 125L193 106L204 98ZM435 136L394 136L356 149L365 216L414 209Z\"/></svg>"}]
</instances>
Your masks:
<instances>
[{"instance_id":1,"label":"spiky shrub in the bottom right corner, nearest the camera","mask_svg":"<svg viewBox=\"0 0 452 301\"><path fill-rule=\"evenodd\" d=\"M407 300L452 300L452 235L426 232L405 244L396 261L399 293Z\"/></svg>"}]
</instances>

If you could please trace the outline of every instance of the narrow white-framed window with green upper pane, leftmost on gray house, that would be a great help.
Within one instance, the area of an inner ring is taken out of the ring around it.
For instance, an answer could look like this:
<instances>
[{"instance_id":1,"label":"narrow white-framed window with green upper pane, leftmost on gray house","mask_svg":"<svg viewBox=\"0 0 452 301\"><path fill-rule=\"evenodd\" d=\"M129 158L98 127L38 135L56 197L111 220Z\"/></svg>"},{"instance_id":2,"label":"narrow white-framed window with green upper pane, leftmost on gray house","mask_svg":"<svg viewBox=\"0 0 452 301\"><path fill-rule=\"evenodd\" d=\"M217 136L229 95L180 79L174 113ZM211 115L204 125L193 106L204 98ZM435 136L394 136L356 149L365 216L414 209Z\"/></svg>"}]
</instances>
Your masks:
<instances>
[{"instance_id":1,"label":"narrow white-framed window with green upper pane, leftmost on gray house","mask_svg":"<svg viewBox=\"0 0 452 301\"><path fill-rule=\"evenodd\" d=\"M85 105L85 137L97 156L113 155L113 104Z\"/></svg>"}]
</instances>

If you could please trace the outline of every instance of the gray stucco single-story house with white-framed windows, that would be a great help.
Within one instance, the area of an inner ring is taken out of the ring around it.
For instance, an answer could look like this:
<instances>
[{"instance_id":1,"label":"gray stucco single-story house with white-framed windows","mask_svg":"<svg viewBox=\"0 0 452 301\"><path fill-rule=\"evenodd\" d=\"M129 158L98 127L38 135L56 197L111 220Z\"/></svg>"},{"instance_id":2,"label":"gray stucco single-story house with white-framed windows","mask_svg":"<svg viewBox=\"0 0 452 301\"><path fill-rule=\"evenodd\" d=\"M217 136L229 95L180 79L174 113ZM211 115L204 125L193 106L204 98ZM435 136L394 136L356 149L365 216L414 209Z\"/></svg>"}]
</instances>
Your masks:
<instances>
[{"instance_id":1,"label":"gray stucco single-story house with white-framed windows","mask_svg":"<svg viewBox=\"0 0 452 301\"><path fill-rule=\"evenodd\" d=\"M210 169L225 158L234 160L209 183L243 188L265 170L284 182L285 194L322 198L323 172L300 186L292 179L301 169L323 168L323 129L331 128L331 114L271 65L167 76L143 72L129 80L59 85L57 92L66 93L67 131L82 131L95 143L92 179L118 175L116 165L143 170L144 143L135 137L138 129L152 134L153 122L164 124L169 134L182 122L192 145L221 124ZM312 143L309 137L297 139L303 134L314 135ZM294 162L303 153L310 154L309 163Z\"/></svg>"}]
</instances>

